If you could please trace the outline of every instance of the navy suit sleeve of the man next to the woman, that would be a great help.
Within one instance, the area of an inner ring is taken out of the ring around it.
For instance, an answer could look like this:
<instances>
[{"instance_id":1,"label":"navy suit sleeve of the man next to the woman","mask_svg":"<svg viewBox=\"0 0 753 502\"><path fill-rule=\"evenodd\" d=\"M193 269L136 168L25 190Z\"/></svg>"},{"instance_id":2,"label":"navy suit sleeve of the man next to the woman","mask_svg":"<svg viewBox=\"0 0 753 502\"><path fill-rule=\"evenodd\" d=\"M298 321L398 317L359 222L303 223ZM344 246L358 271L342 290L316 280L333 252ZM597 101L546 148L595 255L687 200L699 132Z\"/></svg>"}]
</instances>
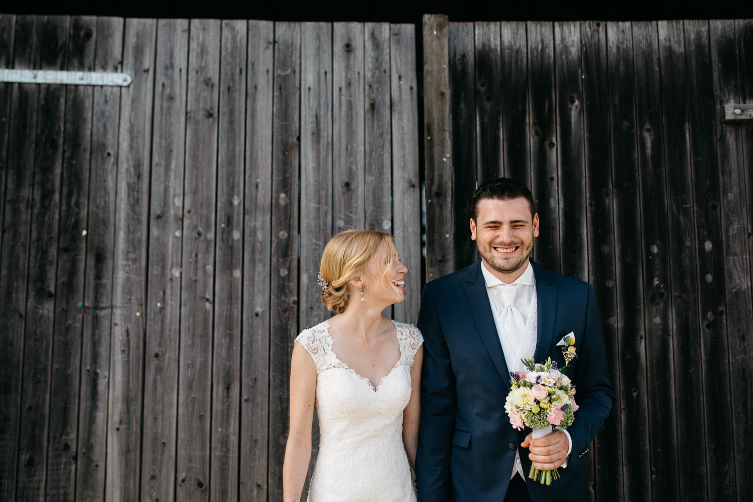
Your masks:
<instances>
[{"instance_id":1,"label":"navy suit sleeve of the man next to the woman","mask_svg":"<svg viewBox=\"0 0 753 502\"><path fill-rule=\"evenodd\" d=\"M424 336L421 372L421 424L416 452L419 500L450 497L450 455L456 413L456 387L450 351L444 339L431 288L424 286L418 327Z\"/></svg>"}]
</instances>

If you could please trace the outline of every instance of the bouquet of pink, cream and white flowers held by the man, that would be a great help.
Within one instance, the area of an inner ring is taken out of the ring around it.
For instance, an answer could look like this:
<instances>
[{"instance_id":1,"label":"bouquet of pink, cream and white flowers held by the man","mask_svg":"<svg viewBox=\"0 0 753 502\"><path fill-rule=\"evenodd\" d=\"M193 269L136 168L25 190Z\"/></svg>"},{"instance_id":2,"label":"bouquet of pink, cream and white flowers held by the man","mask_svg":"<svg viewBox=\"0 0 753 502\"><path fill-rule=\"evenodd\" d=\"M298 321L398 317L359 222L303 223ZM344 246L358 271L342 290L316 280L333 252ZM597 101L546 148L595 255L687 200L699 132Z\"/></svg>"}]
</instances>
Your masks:
<instances>
[{"instance_id":1,"label":"bouquet of pink, cream and white flowers held by the man","mask_svg":"<svg viewBox=\"0 0 753 502\"><path fill-rule=\"evenodd\" d=\"M510 394L505 400L505 412L510 423L519 431L523 427L533 429L532 437L544 437L552 426L566 429L575 420L578 405L575 404L575 385L557 370L556 361L547 357L543 364L536 364L533 356L522 359L526 370L510 372ZM557 470L540 471L531 466L528 477L550 485L558 479Z\"/></svg>"}]
</instances>

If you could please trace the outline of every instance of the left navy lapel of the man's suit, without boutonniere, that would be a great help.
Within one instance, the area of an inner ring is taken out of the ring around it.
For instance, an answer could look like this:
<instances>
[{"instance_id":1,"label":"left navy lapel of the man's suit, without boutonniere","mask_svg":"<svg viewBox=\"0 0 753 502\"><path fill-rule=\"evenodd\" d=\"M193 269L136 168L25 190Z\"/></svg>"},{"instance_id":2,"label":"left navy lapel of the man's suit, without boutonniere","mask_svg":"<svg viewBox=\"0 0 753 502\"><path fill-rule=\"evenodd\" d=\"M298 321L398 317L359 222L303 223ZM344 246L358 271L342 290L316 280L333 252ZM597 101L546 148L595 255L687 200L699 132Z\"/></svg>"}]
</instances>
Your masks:
<instances>
[{"instance_id":1,"label":"left navy lapel of the man's suit, without boutonniere","mask_svg":"<svg viewBox=\"0 0 753 502\"><path fill-rule=\"evenodd\" d=\"M486 293L486 282L483 280L480 267L481 260L478 260L476 266L471 268L468 280L463 283L465 298L468 300L471 316L483 340L483 345L486 345L489 356L492 357L495 367L506 382L510 378L508 365L505 363L505 352L502 351L502 345L499 342L497 325L494 323L492 306L489 304L489 294Z\"/></svg>"}]
</instances>

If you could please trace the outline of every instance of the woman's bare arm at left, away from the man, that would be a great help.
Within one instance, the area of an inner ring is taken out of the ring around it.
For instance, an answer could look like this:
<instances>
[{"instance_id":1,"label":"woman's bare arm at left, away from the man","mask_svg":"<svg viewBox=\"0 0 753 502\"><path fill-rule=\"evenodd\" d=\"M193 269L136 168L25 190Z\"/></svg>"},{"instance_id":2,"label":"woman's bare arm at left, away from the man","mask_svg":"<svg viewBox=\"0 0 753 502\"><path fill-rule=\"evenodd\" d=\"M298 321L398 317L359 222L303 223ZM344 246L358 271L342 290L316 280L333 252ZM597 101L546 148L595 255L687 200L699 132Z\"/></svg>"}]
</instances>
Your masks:
<instances>
[{"instance_id":1,"label":"woman's bare arm at left, away from the man","mask_svg":"<svg viewBox=\"0 0 753 502\"><path fill-rule=\"evenodd\" d=\"M309 353L297 342L290 364L290 430L282 464L282 494L285 502L298 502L311 461L311 424L316 400L316 367Z\"/></svg>"}]
</instances>

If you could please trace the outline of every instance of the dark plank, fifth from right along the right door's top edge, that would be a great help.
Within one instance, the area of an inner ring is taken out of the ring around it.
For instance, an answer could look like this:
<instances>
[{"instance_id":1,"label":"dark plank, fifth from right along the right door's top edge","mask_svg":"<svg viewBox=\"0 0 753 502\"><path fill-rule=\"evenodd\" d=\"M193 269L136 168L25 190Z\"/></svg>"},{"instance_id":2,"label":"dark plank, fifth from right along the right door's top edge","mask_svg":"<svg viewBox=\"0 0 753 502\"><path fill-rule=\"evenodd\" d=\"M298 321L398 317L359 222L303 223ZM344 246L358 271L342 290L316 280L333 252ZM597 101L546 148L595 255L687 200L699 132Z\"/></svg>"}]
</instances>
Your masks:
<instances>
[{"instance_id":1,"label":"dark plank, fifth from right along the right door's top edge","mask_svg":"<svg viewBox=\"0 0 753 502\"><path fill-rule=\"evenodd\" d=\"M657 23L633 23L640 182L651 497L679 501L674 344L669 306L669 226ZM650 382L665 382L651 386ZM682 418L681 418L682 419Z\"/></svg>"}]
</instances>

